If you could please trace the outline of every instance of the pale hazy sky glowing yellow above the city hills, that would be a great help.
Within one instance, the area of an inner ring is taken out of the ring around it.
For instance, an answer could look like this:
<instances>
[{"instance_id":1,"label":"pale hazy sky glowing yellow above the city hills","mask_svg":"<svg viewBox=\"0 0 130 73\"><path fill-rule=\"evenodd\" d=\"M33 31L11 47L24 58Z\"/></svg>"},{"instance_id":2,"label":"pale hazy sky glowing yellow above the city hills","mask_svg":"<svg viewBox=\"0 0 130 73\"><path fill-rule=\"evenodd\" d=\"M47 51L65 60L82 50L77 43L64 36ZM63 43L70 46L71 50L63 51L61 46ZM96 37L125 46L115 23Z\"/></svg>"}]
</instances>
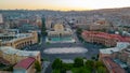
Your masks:
<instances>
[{"instance_id":1,"label":"pale hazy sky glowing yellow above the city hills","mask_svg":"<svg viewBox=\"0 0 130 73\"><path fill-rule=\"evenodd\" d=\"M93 10L130 6L130 0L0 0L0 9Z\"/></svg>"}]
</instances>

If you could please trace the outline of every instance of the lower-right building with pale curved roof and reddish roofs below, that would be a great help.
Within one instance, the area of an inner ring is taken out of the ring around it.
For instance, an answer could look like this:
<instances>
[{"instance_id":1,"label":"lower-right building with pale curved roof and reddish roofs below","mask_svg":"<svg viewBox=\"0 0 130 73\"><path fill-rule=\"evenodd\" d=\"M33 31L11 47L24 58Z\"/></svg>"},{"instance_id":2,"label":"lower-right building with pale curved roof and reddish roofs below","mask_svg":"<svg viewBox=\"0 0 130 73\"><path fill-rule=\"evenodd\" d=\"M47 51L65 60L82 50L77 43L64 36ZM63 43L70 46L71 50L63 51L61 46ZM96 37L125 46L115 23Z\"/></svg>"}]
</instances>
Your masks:
<instances>
[{"instance_id":1,"label":"lower-right building with pale curved roof and reddish roofs below","mask_svg":"<svg viewBox=\"0 0 130 73\"><path fill-rule=\"evenodd\" d=\"M116 47L100 49L99 59L103 61L109 73L126 73L130 65L128 42L118 42ZM126 62L126 63L125 63Z\"/></svg>"}]
</instances>

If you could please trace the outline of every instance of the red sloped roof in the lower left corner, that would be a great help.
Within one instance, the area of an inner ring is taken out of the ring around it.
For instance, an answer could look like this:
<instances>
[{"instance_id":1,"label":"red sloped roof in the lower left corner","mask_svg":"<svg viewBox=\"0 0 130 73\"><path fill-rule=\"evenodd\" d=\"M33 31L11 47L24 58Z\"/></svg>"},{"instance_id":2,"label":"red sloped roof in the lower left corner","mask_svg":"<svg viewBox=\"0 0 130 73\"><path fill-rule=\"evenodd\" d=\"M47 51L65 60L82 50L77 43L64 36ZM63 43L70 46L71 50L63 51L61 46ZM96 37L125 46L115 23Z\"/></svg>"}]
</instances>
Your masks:
<instances>
[{"instance_id":1,"label":"red sloped roof in the lower left corner","mask_svg":"<svg viewBox=\"0 0 130 73\"><path fill-rule=\"evenodd\" d=\"M22 68L27 70L34 62L35 58L29 57L20 61L14 68L15 69Z\"/></svg>"}]
</instances>

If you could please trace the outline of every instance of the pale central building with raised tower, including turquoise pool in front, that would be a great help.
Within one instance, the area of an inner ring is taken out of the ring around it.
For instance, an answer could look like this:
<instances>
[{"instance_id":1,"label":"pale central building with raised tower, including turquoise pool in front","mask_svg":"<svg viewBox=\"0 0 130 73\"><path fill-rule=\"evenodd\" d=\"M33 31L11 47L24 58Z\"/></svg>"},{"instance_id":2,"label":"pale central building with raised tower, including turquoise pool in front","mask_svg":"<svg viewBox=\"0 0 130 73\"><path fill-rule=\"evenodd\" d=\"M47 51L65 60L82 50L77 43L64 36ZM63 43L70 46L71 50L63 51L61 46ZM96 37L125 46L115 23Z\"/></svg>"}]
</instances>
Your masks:
<instances>
[{"instance_id":1,"label":"pale central building with raised tower, including turquoise pool in front","mask_svg":"<svg viewBox=\"0 0 130 73\"><path fill-rule=\"evenodd\" d=\"M65 25L56 24L54 25L53 30L48 31L46 41L50 43L74 43L75 39L70 28L65 27Z\"/></svg>"}]
</instances>

